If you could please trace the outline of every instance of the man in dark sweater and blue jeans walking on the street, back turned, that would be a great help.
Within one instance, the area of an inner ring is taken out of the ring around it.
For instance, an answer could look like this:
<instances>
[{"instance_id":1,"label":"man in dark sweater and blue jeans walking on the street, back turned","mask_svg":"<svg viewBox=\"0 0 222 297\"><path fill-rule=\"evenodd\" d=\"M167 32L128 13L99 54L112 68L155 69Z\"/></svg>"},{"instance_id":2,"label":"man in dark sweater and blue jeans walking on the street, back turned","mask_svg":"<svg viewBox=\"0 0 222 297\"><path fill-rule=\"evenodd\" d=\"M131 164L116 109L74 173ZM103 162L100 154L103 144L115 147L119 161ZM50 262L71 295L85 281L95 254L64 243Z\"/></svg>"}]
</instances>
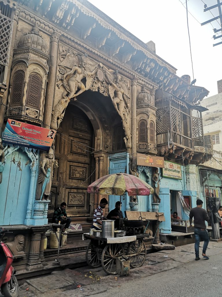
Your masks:
<instances>
[{"instance_id":1,"label":"man in dark sweater and blue jeans walking on the street, back turned","mask_svg":"<svg viewBox=\"0 0 222 297\"><path fill-rule=\"evenodd\" d=\"M202 206L203 206L203 201L200 199L197 199L197 207L192 208L189 215L190 228L192 228L192 219L194 217L194 236L195 236L194 249L195 249L195 255L196 255L195 260L200 260L199 246L200 246L200 241L203 241L203 240L204 240L204 245L203 245L202 256L207 260L209 259L209 257L206 255L206 250L209 243L209 235L205 225L205 221L209 222L209 217L207 215L207 211L204 208L202 208Z\"/></svg>"}]
</instances>

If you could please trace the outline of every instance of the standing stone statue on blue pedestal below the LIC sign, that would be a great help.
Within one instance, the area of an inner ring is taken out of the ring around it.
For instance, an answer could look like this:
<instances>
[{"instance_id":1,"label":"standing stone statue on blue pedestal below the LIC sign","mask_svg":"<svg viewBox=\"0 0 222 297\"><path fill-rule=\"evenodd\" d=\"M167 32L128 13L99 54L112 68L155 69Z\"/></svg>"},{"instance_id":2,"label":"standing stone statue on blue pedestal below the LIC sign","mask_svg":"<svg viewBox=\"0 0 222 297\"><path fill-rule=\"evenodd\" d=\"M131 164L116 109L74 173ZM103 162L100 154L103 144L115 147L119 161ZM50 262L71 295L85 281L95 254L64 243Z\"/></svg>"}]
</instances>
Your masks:
<instances>
[{"instance_id":1,"label":"standing stone statue on blue pedestal below the LIC sign","mask_svg":"<svg viewBox=\"0 0 222 297\"><path fill-rule=\"evenodd\" d=\"M41 192L44 181L48 178L45 190L44 190L44 198L42 200L49 200L50 190L52 187L52 176L53 176L53 169L54 169L54 151L51 148L49 152L46 154L46 157L41 162L40 173L38 176L38 183L41 183ZM50 168L50 173L47 173L48 168Z\"/></svg>"}]
</instances>

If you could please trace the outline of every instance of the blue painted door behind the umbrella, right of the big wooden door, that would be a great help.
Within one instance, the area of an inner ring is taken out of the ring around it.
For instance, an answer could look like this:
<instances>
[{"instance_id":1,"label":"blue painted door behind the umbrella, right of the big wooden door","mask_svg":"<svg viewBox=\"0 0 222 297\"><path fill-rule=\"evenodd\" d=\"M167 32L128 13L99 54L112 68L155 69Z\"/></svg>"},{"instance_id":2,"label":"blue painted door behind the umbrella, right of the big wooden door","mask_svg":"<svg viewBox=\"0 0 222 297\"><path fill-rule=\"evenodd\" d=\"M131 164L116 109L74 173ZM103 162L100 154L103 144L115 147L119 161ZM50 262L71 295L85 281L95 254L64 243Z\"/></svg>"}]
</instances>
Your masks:
<instances>
[{"instance_id":1,"label":"blue painted door behind the umbrella, right of the big wooden door","mask_svg":"<svg viewBox=\"0 0 222 297\"><path fill-rule=\"evenodd\" d=\"M117 154L116 157L112 155L110 158L110 168L109 174L113 173L124 173L126 171L126 154ZM120 201L120 196L109 195L109 211L115 208L115 203ZM121 196L121 211L123 212L123 217L125 217L124 211L126 210L126 194Z\"/></svg>"}]
</instances>

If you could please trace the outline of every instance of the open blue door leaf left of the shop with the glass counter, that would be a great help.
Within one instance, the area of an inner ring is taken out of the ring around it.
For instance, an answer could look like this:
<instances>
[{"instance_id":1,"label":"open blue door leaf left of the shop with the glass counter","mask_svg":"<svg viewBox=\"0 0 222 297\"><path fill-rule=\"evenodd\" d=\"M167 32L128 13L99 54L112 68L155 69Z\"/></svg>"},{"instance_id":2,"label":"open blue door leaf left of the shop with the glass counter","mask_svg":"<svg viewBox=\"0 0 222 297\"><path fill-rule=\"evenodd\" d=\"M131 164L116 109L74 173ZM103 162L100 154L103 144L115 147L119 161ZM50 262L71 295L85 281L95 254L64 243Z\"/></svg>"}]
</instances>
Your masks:
<instances>
[{"instance_id":1,"label":"open blue door leaf left of the shop with the glass counter","mask_svg":"<svg viewBox=\"0 0 222 297\"><path fill-rule=\"evenodd\" d=\"M171 218L170 218L170 188L160 188L160 205L159 212L164 213L165 222L161 222L159 229L160 233L171 233Z\"/></svg>"}]
</instances>

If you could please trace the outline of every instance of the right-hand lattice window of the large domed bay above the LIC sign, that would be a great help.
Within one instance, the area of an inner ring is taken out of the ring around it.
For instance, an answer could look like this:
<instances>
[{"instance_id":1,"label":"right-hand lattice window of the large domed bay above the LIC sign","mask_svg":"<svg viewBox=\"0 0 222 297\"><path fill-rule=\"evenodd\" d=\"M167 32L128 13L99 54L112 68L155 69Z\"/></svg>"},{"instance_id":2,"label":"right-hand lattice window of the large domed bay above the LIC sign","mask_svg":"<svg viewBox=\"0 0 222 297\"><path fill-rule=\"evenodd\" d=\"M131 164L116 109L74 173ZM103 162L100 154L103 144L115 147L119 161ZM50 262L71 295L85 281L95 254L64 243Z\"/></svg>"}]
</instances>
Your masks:
<instances>
[{"instance_id":1,"label":"right-hand lattice window of the large domed bay above the LIC sign","mask_svg":"<svg viewBox=\"0 0 222 297\"><path fill-rule=\"evenodd\" d=\"M39 107L39 102L41 98L41 78L33 73L29 77L28 81L28 92L27 92L27 105L33 106L35 108Z\"/></svg>"}]
</instances>

